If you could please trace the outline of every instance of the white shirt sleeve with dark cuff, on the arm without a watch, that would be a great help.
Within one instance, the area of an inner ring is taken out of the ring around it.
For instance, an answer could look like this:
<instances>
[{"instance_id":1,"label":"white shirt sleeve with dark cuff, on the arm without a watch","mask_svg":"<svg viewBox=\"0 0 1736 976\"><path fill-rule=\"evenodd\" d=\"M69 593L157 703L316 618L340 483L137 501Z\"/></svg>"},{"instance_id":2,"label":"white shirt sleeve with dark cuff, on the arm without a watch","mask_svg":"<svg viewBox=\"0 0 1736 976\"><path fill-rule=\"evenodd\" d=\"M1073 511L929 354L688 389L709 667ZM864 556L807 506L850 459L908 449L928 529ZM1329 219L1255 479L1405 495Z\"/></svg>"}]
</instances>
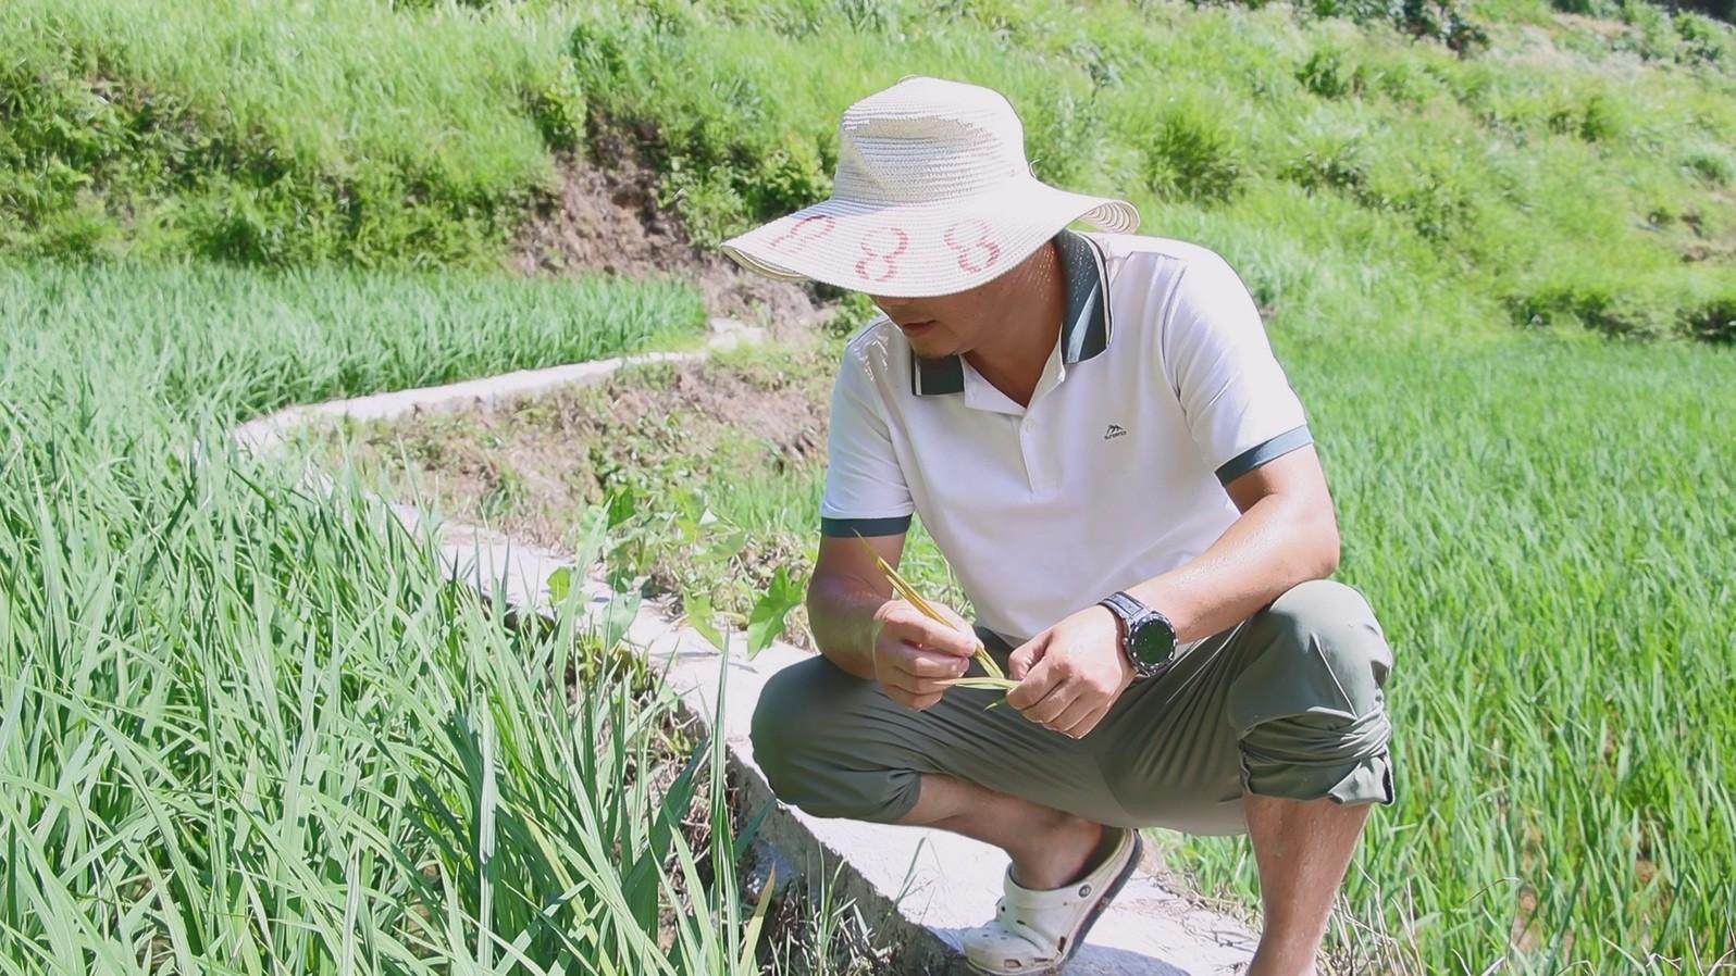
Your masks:
<instances>
[{"instance_id":1,"label":"white shirt sleeve with dark cuff, on the arm without a watch","mask_svg":"<svg viewBox=\"0 0 1736 976\"><path fill-rule=\"evenodd\" d=\"M832 387L821 532L899 536L910 529L913 510L873 374L861 352L847 347Z\"/></svg>"}]
</instances>

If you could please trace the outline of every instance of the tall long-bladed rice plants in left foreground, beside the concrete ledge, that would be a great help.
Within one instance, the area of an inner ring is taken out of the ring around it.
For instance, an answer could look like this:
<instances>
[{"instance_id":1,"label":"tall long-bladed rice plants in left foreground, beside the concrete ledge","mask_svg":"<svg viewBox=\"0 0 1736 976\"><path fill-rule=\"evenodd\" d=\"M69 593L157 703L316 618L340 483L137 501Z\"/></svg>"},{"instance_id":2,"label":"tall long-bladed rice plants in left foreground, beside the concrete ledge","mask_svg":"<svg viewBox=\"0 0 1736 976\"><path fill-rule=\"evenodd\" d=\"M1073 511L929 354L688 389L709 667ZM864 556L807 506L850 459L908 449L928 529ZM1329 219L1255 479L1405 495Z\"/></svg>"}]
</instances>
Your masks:
<instances>
[{"instance_id":1,"label":"tall long-bladed rice plants in left foreground, beside the concrete ledge","mask_svg":"<svg viewBox=\"0 0 1736 976\"><path fill-rule=\"evenodd\" d=\"M670 702L613 669L575 704L608 648L571 619L502 629L352 491L30 426L62 437L0 504L35 565L0 579L10 966L759 971L719 754L663 791Z\"/></svg>"}]
</instances>

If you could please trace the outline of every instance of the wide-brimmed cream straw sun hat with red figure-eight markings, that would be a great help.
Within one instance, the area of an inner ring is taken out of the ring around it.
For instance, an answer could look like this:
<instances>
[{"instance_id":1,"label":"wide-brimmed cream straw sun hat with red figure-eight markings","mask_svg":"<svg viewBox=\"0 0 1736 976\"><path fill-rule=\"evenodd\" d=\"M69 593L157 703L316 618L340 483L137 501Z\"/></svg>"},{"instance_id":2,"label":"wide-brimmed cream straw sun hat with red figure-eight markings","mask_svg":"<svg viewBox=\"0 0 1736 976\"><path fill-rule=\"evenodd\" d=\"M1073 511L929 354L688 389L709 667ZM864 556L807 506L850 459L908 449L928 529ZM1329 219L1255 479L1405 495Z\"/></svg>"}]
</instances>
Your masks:
<instances>
[{"instance_id":1,"label":"wide-brimmed cream straw sun hat with red figure-eight markings","mask_svg":"<svg viewBox=\"0 0 1736 976\"><path fill-rule=\"evenodd\" d=\"M844 111L832 187L724 253L769 277L913 298L976 288L1080 218L1139 225L1127 201L1038 180L998 92L939 78L908 76Z\"/></svg>"}]
</instances>

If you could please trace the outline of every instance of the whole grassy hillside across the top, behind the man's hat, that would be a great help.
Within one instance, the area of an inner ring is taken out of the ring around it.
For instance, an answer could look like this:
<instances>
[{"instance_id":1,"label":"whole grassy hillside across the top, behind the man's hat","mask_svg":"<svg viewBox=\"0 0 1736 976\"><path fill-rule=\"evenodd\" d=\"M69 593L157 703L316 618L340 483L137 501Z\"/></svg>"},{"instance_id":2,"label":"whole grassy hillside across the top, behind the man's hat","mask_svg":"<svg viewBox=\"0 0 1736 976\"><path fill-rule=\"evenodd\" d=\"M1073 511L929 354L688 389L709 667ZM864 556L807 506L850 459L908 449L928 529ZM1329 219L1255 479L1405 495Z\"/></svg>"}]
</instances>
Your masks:
<instances>
[{"instance_id":1,"label":"whole grassy hillside across the top, behind the man's hat","mask_svg":"<svg viewBox=\"0 0 1736 976\"><path fill-rule=\"evenodd\" d=\"M0 248L488 264L552 153L621 127L717 241L826 192L849 101L936 73L1007 92L1043 177L1222 250L1281 328L1727 338L1736 43L1618 12L1470 9L1488 43L1455 52L1286 7L14 0Z\"/></svg>"}]
</instances>

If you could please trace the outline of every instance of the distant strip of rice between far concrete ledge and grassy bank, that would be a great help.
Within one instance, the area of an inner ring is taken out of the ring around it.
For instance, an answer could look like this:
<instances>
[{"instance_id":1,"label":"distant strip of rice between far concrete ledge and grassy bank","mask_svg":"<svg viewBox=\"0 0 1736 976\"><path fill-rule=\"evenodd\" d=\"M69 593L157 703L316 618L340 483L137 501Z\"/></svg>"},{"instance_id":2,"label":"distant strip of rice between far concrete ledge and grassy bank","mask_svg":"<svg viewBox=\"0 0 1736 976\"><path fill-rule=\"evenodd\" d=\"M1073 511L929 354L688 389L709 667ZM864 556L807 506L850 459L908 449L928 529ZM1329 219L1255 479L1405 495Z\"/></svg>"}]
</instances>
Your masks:
<instances>
[{"instance_id":1,"label":"distant strip of rice between far concrete ledge and grassy bank","mask_svg":"<svg viewBox=\"0 0 1736 976\"><path fill-rule=\"evenodd\" d=\"M672 281L319 267L0 265L0 309L12 397L59 376L229 420L677 345L705 324Z\"/></svg>"}]
</instances>

